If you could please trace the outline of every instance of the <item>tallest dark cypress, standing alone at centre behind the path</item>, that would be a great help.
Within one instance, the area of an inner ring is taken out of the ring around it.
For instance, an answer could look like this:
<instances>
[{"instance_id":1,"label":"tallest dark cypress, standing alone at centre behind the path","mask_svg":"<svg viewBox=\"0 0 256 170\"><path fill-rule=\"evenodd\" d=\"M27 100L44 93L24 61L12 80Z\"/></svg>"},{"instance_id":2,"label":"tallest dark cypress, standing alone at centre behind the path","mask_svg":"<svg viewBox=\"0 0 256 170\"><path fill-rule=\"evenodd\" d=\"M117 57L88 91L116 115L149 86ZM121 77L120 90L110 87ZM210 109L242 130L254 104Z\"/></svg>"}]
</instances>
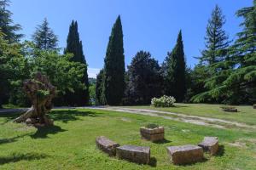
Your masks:
<instances>
[{"instance_id":1,"label":"tallest dark cypress, standing alone at centre behind the path","mask_svg":"<svg viewBox=\"0 0 256 170\"><path fill-rule=\"evenodd\" d=\"M125 91L125 55L120 16L113 25L104 62L103 94L108 105L119 105Z\"/></svg>"}]
</instances>

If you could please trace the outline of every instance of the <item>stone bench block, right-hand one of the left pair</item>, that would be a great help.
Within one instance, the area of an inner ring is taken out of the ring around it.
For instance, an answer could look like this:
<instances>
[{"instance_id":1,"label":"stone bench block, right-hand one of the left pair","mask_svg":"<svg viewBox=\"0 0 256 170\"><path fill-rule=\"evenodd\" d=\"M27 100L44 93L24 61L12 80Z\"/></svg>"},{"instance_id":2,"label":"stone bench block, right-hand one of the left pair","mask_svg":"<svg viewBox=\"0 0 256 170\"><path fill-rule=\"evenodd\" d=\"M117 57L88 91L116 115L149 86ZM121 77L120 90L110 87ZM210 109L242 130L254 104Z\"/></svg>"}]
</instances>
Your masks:
<instances>
[{"instance_id":1,"label":"stone bench block, right-hand one of the left pair","mask_svg":"<svg viewBox=\"0 0 256 170\"><path fill-rule=\"evenodd\" d=\"M116 149L119 159L148 164L150 161L150 148L145 146L124 145Z\"/></svg>"}]
</instances>

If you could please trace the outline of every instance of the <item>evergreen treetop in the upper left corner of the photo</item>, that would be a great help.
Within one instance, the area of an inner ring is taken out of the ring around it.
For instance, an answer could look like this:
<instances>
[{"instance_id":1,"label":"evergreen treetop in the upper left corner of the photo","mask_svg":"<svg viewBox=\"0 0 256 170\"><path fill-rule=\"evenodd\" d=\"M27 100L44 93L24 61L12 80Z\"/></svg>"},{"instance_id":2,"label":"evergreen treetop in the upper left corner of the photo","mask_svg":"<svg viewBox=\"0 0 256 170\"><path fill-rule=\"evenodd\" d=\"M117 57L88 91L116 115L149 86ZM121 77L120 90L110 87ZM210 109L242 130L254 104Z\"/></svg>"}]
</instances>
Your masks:
<instances>
[{"instance_id":1,"label":"evergreen treetop in the upper left corner of the photo","mask_svg":"<svg viewBox=\"0 0 256 170\"><path fill-rule=\"evenodd\" d=\"M12 13L7 9L9 7L9 0L0 0L0 30L3 32L3 38L9 43L19 42L22 34L17 34L16 31L21 30L21 26L14 24L11 19Z\"/></svg>"}]
</instances>

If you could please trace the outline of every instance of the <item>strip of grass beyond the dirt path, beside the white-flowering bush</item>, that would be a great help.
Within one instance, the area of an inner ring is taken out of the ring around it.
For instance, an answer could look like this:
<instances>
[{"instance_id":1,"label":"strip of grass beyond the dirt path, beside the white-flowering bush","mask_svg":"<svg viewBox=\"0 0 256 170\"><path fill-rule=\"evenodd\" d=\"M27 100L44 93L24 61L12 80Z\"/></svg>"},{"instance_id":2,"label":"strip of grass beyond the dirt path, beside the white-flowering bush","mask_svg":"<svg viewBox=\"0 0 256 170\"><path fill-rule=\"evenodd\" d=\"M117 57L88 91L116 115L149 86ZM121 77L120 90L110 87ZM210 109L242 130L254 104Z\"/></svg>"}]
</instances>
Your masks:
<instances>
[{"instance_id":1,"label":"strip of grass beyond the dirt path, beside the white-flowering bush","mask_svg":"<svg viewBox=\"0 0 256 170\"><path fill-rule=\"evenodd\" d=\"M189 116L205 116L219 118L228 121L242 122L248 125L256 125L256 110L252 105L236 105L238 112L225 112L220 108L224 105L207 105L207 104L175 104L175 107L154 108L153 106L128 106L129 108L150 109L156 111L170 111L183 113Z\"/></svg>"}]
</instances>

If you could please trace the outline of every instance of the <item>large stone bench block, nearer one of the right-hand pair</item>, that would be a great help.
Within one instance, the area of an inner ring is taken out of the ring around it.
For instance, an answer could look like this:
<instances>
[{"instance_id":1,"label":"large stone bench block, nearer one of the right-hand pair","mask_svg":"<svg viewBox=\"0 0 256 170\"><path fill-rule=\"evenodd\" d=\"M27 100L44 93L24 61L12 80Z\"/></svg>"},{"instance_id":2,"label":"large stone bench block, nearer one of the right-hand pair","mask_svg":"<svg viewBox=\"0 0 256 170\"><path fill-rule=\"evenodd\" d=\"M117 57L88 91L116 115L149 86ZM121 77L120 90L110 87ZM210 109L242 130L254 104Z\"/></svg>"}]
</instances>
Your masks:
<instances>
[{"instance_id":1,"label":"large stone bench block, nearer one of the right-hand pair","mask_svg":"<svg viewBox=\"0 0 256 170\"><path fill-rule=\"evenodd\" d=\"M196 145L170 146L167 151L171 156L172 163L183 165L203 160L203 150Z\"/></svg>"}]
</instances>

